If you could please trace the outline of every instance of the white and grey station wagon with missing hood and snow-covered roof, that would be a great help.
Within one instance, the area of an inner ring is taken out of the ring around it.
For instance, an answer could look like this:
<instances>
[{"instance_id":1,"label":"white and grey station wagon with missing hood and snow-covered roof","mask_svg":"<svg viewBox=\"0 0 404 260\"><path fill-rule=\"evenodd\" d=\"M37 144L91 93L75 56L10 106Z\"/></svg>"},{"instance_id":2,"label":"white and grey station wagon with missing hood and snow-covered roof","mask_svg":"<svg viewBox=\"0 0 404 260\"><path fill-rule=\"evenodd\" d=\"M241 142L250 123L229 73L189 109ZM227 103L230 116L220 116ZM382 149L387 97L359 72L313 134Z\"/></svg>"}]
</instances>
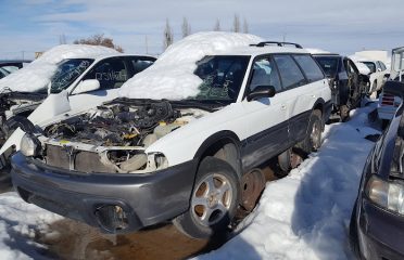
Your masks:
<instances>
[{"instance_id":1,"label":"white and grey station wagon with missing hood and snow-covered roof","mask_svg":"<svg viewBox=\"0 0 404 260\"><path fill-rule=\"evenodd\" d=\"M258 40L189 36L122 98L33 127L12 158L15 190L108 233L167 220L191 237L224 232L264 188L258 166L290 169L293 147L318 150L331 109L310 53Z\"/></svg>"}]
</instances>

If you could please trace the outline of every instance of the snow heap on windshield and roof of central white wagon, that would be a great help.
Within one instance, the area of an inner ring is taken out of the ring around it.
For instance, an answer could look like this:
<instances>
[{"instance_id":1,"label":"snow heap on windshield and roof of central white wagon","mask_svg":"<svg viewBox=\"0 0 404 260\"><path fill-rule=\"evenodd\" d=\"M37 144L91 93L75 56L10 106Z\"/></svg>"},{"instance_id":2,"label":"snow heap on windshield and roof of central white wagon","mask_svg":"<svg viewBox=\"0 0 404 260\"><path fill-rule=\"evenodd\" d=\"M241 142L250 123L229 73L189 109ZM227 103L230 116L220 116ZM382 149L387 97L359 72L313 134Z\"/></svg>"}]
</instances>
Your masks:
<instances>
[{"instance_id":1,"label":"snow heap on windshield and roof of central white wagon","mask_svg":"<svg viewBox=\"0 0 404 260\"><path fill-rule=\"evenodd\" d=\"M205 55L263 41L253 35L199 32L171 46L153 64L135 75L119 90L131 99L181 100L198 94L202 80L193 74L197 62Z\"/></svg>"}]
</instances>

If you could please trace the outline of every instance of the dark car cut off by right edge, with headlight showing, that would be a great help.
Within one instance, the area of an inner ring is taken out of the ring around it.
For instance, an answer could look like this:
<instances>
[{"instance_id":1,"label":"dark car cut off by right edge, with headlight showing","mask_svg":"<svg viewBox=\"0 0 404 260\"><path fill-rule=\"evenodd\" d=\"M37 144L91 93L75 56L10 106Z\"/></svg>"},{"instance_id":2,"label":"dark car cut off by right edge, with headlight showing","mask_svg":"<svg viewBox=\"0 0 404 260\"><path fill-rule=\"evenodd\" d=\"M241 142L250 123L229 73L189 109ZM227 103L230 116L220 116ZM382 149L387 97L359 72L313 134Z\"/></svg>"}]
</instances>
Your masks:
<instances>
[{"instance_id":1,"label":"dark car cut off by right edge, with headlight showing","mask_svg":"<svg viewBox=\"0 0 404 260\"><path fill-rule=\"evenodd\" d=\"M384 89L403 99L404 83ZM370 152L352 211L351 247L361 259L404 259L404 105Z\"/></svg>"}]
</instances>

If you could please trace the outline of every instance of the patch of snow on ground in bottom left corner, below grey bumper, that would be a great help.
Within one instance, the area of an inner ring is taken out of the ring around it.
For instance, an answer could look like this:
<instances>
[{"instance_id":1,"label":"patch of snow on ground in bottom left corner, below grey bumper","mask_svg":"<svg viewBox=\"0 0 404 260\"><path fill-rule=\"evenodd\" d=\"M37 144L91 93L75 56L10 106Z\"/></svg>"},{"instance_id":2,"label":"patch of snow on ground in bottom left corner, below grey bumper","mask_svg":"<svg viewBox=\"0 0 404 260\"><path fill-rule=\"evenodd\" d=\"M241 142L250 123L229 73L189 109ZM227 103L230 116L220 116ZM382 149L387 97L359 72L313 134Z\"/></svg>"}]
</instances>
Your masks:
<instances>
[{"instance_id":1,"label":"patch of snow on ground in bottom left corner, below grey bumper","mask_svg":"<svg viewBox=\"0 0 404 260\"><path fill-rule=\"evenodd\" d=\"M62 217L25 203L14 192L0 195L0 259L45 259L39 253L43 246L34 239Z\"/></svg>"}]
</instances>

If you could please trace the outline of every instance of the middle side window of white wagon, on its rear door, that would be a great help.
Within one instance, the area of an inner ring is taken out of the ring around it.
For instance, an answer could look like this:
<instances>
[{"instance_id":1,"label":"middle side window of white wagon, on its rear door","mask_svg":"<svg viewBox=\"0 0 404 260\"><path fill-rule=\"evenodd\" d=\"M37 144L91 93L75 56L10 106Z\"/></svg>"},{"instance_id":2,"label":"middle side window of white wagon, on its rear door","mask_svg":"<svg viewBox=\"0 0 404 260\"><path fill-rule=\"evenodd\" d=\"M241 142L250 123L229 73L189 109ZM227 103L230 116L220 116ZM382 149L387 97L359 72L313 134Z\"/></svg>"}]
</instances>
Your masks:
<instances>
[{"instance_id":1,"label":"middle side window of white wagon, on its rear door","mask_svg":"<svg viewBox=\"0 0 404 260\"><path fill-rule=\"evenodd\" d=\"M278 65L285 89L296 88L306 83L298 64L290 55L274 55L274 60Z\"/></svg>"}]
</instances>

